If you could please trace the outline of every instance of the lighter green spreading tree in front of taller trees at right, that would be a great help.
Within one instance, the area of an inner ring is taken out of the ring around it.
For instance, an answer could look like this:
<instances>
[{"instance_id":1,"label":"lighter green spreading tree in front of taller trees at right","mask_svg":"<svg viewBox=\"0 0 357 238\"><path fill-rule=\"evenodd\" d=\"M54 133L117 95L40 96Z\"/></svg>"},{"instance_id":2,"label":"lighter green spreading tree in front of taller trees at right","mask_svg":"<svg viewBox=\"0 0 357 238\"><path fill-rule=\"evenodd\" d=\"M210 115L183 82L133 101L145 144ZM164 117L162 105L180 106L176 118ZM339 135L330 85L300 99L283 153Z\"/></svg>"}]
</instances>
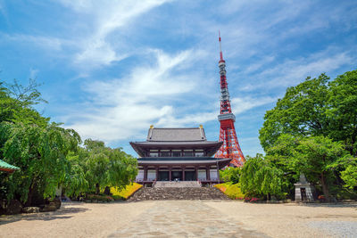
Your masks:
<instances>
[{"instance_id":1,"label":"lighter green spreading tree in front of taller trees at right","mask_svg":"<svg viewBox=\"0 0 357 238\"><path fill-rule=\"evenodd\" d=\"M344 144L328 137L292 135L280 135L267 157L285 172L303 173L311 183L320 186L328 200L331 186L339 185L338 166L344 168L351 159Z\"/></svg>"}]
</instances>

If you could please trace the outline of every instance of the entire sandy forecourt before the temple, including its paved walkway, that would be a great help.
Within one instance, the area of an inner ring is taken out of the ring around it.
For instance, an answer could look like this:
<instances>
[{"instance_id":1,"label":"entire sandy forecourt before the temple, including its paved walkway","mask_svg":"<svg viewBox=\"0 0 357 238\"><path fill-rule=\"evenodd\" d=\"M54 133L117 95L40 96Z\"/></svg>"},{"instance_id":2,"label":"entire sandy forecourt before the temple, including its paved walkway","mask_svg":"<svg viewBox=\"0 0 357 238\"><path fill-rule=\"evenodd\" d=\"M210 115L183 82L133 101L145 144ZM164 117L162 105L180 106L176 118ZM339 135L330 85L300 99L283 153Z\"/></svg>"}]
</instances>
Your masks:
<instances>
[{"instance_id":1,"label":"entire sandy forecourt before the temple, including its paved walkway","mask_svg":"<svg viewBox=\"0 0 357 238\"><path fill-rule=\"evenodd\" d=\"M357 204L71 202L55 212L0 217L0 237L108 236L357 237Z\"/></svg>"}]
</instances>

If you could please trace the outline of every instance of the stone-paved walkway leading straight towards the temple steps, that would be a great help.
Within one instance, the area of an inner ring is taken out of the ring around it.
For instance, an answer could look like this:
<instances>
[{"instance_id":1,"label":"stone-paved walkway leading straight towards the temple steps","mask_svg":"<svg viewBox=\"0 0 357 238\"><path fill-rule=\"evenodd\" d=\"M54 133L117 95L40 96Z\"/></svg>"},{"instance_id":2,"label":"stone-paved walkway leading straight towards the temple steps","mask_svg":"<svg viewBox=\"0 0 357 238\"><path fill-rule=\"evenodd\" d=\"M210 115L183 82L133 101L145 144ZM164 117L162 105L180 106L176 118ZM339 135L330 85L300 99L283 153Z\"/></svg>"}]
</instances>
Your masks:
<instances>
[{"instance_id":1,"label":"stone-paved walkway leading straight towards the temple steps","mask_svg":"<svg viewBox=\"0 0 357 238\"><path fill-rule=\"evenodd\" d=\"M219 202L219 201L218 201ZM160 201L109 237L269 237L202 201Z\"/></svg>"}]
</instances>

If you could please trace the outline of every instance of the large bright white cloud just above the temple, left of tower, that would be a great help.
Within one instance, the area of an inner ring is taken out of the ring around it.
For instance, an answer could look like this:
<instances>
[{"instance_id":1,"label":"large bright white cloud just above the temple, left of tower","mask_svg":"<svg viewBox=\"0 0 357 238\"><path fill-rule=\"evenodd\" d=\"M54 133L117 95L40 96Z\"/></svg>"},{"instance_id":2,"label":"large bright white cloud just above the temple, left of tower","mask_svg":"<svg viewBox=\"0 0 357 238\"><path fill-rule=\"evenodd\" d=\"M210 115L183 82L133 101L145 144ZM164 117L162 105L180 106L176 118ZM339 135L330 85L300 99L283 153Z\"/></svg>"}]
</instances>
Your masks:
<instances>
[{"instance_id":1,"label":"large bright white cloud just above the temple, left of tower","mask_svg":"<svg viewBox=\"0 0 357 238\"><path fill-rule=\"evenodd\" d=\"M105 141L127 139L155 121L171 117L172 101L179 94L191 92L195 82L189 72L172 74L172 70L191 61L191 51L168 55L151 51L156 57L154 66L138 67L127 78L110 82L95 81L85 90L93 104L83 105L71 113L66 127L73 127L83 137Z\"/></svg>"}]
</instances>

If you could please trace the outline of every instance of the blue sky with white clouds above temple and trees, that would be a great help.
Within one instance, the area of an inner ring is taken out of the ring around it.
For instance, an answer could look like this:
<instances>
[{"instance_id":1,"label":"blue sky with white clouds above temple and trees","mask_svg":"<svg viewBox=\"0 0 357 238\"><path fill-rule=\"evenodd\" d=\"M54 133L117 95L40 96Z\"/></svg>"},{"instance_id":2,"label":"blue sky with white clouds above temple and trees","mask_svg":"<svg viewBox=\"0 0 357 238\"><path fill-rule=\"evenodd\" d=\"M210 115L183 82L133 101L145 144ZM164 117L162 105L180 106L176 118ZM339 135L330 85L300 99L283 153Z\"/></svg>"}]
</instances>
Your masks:
<instances>
[{"instance_id":1,"label":"blue sky with white clouds above temple and trees","mask_svg":"<svg viewBox=\"0 0 357 238\"><path fill-rule=\"evenodd\" d=\"M0 79L29 78L40 111L136 155L155 127L218 140L218 30L245 155L287 86L356 70L357 1L4 1Z\"/></svg>"}]
</instances>

